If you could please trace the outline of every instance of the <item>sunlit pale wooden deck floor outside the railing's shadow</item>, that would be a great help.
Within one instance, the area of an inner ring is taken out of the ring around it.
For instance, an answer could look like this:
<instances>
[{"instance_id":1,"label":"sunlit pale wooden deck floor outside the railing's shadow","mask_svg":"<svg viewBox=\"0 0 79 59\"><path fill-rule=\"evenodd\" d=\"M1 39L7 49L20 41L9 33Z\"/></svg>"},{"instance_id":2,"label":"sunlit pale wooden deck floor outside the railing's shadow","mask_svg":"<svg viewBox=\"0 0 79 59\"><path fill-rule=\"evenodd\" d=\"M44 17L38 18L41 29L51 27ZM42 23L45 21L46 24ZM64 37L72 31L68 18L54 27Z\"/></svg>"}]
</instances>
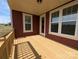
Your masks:
<instances>
[{"instance_id":1,"label":"sunlit pale wooden deck floor outside the railing's shadow","mask_svg":"<svg viewBox=\"0 0 79 59\"><path fill-rule=\"evenodd\" d=\"M19 38L14 44L29 41L42 59L77 59L78 51L40 35Z\"/></svg>"}]
</instances>

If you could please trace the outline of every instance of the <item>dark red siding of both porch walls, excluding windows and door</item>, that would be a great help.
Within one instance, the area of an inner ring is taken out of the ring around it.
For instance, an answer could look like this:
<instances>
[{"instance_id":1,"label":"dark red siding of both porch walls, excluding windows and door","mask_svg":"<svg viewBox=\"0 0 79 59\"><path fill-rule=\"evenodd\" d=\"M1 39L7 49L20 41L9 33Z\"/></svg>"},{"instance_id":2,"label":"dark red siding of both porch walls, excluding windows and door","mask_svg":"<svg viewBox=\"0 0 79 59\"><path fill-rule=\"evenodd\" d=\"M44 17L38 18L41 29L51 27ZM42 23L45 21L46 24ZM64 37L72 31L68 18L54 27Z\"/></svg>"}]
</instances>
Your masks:
<instances>
[{"instance_id":1,"label":"dark red siding of both porch walls, excluding windows and door","mask_svg":"<svg viewBox=\"0 0 79 59\"><path fill-rule=\"evenodd\" d=\"M45 36L51 40L54 40L54 41L57 41L57 42L62 43L64 45L67 45L69 47L78 49L78 40L73 40L73 39L64 38L64 37L49 34L49 17L50 17L49 13L50 13L50 11L46 12ZM40 19L39 16L33 15L33 32L27 32L27 33L23 33L22 12L12 10L12 16L13 16L13 27L14 27L16 38L28 36L28 35L39 34L39 19Z\"/></svg>"}]
</instances>

